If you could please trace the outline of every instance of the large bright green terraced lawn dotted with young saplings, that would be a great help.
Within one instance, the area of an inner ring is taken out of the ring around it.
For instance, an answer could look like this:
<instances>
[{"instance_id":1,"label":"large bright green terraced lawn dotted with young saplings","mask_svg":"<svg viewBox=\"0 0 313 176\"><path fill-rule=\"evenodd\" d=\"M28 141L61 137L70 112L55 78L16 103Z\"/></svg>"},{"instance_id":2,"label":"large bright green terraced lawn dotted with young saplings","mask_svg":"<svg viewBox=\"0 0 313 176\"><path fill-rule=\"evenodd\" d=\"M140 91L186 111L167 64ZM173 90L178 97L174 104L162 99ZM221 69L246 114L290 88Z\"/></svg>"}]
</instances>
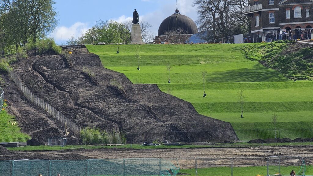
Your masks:
<instances>
[{"instance_id":1,"label":"large bright green terraced lawn dotted with young saplings","mask_svg":"<svg viewBox=\"0 0 313 176\"><path fill-rule=\"evenodd\" d=\"M242 47L260 44L86 45L105 68L124 73L133 83L156 83L182 98L198 113L230 122L235 129L313 128L313 82L292 82L279 72L245 57ZM264 44L262 44L264 45ZM141 60L137 70L135 51ZM172 65L168 84L166 65ZM201 71L207 70L203 98ZM244 118L239 90L244 90Z\"/></svg>"}]
</instances>

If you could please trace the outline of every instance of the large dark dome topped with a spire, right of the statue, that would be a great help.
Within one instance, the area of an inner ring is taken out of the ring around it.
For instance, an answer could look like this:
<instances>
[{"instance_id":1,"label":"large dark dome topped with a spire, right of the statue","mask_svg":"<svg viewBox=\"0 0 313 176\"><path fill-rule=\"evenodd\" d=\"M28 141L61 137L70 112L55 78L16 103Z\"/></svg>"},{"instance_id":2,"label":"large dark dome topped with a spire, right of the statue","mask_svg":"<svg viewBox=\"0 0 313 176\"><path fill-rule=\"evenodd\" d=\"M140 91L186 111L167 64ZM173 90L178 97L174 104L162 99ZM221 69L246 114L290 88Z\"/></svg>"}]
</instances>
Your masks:
<instances>
[{"instance_id":1,"label":"large dark dome topped with a spire, right of the statue","mask_svg":"<svg viewBox=\"0 0 313 176\"><path fill-rule=\"evenodd\" d=\"M191 18L180 13L174 13L163 20L159 27L158 36L164 35L166 31L177 28L182 28L187 34L198 33L197 25Z\"/></svg>"}]
</instances>

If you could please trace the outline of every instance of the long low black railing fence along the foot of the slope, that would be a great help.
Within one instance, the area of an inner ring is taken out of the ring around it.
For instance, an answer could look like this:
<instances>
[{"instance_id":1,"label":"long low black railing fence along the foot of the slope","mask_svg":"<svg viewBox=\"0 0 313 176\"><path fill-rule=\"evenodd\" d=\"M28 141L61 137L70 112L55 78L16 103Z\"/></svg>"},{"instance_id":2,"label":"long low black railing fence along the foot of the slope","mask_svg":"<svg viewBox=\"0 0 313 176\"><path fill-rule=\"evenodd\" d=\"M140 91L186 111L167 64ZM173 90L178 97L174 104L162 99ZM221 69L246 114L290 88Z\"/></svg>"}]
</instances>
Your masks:
<instances>
[{"instance_id":1,"label":"long low black railing fence along the foot of the slope","mask_svg":"<svg viewBox=\"0 0 313 176\"><path fill-rule=\"evenodd\" d=\"M96 144L142 144L146 143L206 143L224 141L250 141L254 139L269 138L313 138L313 129L235 129L213 130L207 132L185 133L113 133L113 134L85 134L80 137L51 136L51 138L67 138L67 145L96 145ZM26 142L29 138L0 138L1 142ZM28 145L47 145L48 138L34 138L28 141ZM311 140L306 140L311 141Z\"/></svg>"}]
</instances>

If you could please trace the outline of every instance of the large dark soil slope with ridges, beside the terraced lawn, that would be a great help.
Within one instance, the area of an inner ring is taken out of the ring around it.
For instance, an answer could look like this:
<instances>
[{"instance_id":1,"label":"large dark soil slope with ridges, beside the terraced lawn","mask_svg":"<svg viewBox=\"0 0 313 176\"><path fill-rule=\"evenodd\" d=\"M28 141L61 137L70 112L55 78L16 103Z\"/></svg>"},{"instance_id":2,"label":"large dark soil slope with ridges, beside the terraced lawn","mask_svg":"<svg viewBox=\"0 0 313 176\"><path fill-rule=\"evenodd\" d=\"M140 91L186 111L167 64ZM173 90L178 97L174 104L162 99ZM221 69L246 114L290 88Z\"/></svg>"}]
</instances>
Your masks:
<instances>
[{"instance_id":1,"label":"large dark soil slope with ridges, beside the terraced lawn","mask_svg":"<svg viewBox=\"0 0 313 176\"><path fill-rule=\"evenodd\" d=\"M69 61L61 55L33 56L15 63L13 69L34 94L79 126L108 132L179 133L178 141L194 141L191 131L201 136L221 130L220 140L234 140L229 139L235 136L230 123L198 114L191 103L163 93L155 84L132 84L124 74L103 68L100 58L86 53L86 48L69 50L74 53ZM123 88L112 86L112 79Z\"/></svg>"}]
</instances>

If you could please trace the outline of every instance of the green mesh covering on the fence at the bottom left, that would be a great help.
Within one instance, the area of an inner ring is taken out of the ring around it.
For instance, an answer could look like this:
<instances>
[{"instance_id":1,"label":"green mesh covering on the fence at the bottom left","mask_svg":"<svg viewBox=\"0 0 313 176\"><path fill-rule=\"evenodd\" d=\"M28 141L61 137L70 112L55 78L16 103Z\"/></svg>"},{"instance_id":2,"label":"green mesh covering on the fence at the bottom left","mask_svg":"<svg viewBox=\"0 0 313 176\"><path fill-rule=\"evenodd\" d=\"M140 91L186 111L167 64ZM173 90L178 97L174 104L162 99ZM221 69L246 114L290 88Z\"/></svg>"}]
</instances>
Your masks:
<instances>
[{"instance_id":1,"label":"green mesh covering on the fence at the bottom left","mask_svg":"<svg viewBox=\"0 0 313 176\"><path fill-rule=\"evenodd\" d=\"M175 159L0 161L0 176L176 176Z\"/></svg>"}]
</instances>

